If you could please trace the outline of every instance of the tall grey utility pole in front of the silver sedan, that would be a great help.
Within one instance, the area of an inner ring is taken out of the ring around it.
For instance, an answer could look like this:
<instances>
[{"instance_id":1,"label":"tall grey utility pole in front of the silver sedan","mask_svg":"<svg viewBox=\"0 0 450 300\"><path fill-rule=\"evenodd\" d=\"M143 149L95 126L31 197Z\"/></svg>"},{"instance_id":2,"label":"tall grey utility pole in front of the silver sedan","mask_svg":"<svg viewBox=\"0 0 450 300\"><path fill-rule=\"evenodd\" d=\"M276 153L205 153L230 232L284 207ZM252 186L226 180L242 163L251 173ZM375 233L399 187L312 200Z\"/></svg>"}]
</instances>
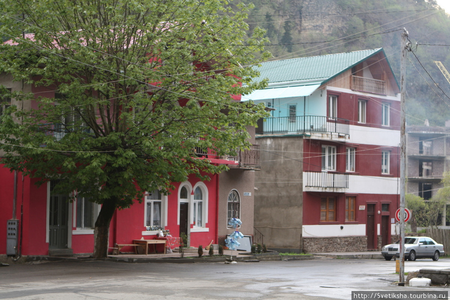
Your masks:
<instances>
[{"instance_id":1,"label":"tall grey utility pole in front of the silver sedan","mask_svg":"<svg viewBox=\"0 0 450 300\"><path fill-rule=\"evenodd\" d=\"M401 33L401 60L400 60L400 279L398 285L404 285L404 182L405 182L405 161L406 161L406 135L405 135L405 114L404 114L404 89L406 54L409 50L410 42L407 40L408 31L403 28Z\"/></svg>"}]
</instances>

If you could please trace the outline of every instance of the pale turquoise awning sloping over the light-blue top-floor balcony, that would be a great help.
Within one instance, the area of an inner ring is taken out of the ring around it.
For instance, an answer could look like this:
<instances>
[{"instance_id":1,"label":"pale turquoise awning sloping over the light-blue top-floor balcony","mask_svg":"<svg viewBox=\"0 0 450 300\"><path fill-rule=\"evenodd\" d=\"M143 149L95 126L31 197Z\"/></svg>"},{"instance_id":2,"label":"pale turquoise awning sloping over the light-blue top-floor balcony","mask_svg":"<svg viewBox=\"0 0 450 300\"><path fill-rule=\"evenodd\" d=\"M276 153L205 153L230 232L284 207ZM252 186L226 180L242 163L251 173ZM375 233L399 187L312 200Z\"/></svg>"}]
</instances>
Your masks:
<instances>
[{"instance_id":1,"label":"pale turquoise awning sloping over the light-blue top-floor balcony","mask_svg":"<svg viewBox=\"0 0 450 300\"><path fill-rule=\"evenodd\" d=\"M309 96L319 86L320 84L311 84L301 86L257 89L254 90L249 95L242 96L242 101Z\"/></svg>"}]
</instances>

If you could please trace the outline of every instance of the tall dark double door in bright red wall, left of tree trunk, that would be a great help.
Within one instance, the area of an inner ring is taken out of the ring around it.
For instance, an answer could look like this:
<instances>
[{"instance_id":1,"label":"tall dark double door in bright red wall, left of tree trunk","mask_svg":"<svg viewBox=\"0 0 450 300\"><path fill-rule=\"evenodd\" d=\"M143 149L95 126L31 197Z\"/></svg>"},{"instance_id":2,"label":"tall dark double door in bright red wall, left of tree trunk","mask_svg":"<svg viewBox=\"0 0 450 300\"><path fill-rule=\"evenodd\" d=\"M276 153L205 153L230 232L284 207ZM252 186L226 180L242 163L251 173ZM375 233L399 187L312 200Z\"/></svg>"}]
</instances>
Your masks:
<instances>
[{"instance_id":1,"label":"tall dark double door in bright red wall, left of tree trunk","mask_svg":"<svg viewBox=\"0 0 450 300\"><path fill-rule=\"evenodd\" d=\"M51 185L51 183L50 183ZM51 190L51 186L50 186ZM49 209L49 239L48 248L67 248L67 221L68 221L68 199L67 195L52 194L50 191Z\"/></svg>"}]
</instances>

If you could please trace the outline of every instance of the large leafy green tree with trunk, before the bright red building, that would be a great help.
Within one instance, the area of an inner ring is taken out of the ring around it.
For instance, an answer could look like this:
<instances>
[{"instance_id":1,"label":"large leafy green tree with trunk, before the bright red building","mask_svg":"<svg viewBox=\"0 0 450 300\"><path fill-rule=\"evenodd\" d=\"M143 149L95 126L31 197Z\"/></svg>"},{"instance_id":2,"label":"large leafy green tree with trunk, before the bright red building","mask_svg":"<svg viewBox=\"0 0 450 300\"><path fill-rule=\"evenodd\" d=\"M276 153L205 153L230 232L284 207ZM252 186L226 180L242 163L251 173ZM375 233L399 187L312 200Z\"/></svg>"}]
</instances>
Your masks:
<instances>
[{"instance_id":1,"label":"large leafy green tree with trunk, before the bright red building","mask_svg":"<svg viewBox=\"0 0 450 300\"><path fill-rule=\"evenodd\" d=\"M1 2L0 30L10 42L0 46L0 70L23 83L1 118L1 162L102 204L93 257L107 255L116 209L146 190L168 193L189 174L225 170L193 149L221 156L248 146L246 126L263 107L231 95L263 86L242 65L255 62L264 31L246 37L247 7L226 3Z\"/></svg>"}]
</instances>

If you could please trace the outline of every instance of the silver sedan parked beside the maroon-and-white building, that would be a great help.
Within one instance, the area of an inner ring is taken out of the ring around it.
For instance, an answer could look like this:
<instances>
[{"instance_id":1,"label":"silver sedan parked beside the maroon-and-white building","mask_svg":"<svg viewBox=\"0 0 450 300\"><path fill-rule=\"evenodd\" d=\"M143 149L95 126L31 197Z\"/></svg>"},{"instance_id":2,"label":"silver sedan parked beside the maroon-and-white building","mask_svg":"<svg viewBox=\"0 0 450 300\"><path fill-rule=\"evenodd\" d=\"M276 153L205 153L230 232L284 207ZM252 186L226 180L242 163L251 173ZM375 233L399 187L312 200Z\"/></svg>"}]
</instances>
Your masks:
<instances>
[{"instance_id":1,"label":"silver sedan parked beside the maroon-and-white building","mask_svg":"<svg viewBox=\"0 0 450 300\"><path fill-rule=\"evenodd\" d=\"M398 248L400 241L382 247L381 255L390 260L393 256L400 256ZM428 257L433 260L439 259L444 254L443 245L435 242L427 236L408 236L404 238L404 259L415 260L417 257Z\"/></svg>"}]
</instances>

